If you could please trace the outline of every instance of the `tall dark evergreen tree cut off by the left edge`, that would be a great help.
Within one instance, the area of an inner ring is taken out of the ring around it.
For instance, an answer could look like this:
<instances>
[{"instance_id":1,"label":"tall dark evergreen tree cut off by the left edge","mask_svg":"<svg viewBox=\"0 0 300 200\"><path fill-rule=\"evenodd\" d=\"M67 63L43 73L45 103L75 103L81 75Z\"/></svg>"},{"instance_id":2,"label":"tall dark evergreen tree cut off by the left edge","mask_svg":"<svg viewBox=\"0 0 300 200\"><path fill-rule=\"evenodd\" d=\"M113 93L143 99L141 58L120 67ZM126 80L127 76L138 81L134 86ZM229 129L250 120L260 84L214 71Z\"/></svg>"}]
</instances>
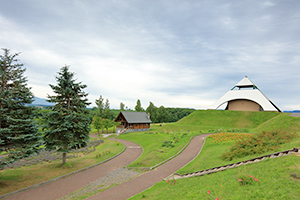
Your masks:
<instances>
[{"instance_id":1,"label":"tall dark evergreen tree cut off by the left edge","mask_svg":"<svg viewBox=\"0 0 300 200\"><path fill-rule=\"evenodd\" d=\"M23 64L3 49L0 55L0 169L7 163L37 153L41 145L37 125L33 122L33 94L27 86Z\"/></svg>"}]
</instances>

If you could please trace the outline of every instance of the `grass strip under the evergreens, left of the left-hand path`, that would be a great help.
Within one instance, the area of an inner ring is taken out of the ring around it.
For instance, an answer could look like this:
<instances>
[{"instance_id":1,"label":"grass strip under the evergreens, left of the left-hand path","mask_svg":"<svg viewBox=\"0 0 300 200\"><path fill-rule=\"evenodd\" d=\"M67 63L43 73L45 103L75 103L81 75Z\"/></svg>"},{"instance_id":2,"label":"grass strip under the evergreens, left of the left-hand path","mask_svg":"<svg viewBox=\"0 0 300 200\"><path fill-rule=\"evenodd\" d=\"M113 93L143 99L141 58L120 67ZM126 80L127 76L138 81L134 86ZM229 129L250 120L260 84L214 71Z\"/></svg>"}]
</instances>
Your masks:
<instances>
[{"instance_id":1,"label":"grass strip under the evergreens, left of the left-hand path","mask_svg":"<svg viewBox=\"0 0 300 200\"><path fill-rule=\"evenodd\" d=\"M123 148L124 145L105 139L103 144L96 147L96 151L79 158L67 159L64 167L61 167L61 161L55 161L0 171L0 195L97 164L121 152ZM107 153L108 151L110 153ZM96 157L99 153L102 153L102 156Z\"/></svg>"}]
</instances>

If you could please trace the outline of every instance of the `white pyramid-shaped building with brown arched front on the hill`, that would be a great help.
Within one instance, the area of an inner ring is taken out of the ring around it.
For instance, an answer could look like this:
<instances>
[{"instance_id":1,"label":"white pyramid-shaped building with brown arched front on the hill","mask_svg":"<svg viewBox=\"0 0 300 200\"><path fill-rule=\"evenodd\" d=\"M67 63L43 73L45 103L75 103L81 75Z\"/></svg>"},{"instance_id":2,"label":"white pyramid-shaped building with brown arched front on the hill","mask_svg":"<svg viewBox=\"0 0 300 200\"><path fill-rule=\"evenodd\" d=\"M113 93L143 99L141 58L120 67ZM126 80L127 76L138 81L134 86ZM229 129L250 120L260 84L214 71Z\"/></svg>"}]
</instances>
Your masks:
<instances>
[{"instance_id":1,"label":"white pyramid-shaped building with brown arched front on the hill","mask_svg":"<svg viewBox=\"0 0 300 200\"><path fill-rule=\"evenodd\" d=\"M208 109L217 110L226 103L225 110L282 112L247 76Z\"/></svg>"}]
</instances>

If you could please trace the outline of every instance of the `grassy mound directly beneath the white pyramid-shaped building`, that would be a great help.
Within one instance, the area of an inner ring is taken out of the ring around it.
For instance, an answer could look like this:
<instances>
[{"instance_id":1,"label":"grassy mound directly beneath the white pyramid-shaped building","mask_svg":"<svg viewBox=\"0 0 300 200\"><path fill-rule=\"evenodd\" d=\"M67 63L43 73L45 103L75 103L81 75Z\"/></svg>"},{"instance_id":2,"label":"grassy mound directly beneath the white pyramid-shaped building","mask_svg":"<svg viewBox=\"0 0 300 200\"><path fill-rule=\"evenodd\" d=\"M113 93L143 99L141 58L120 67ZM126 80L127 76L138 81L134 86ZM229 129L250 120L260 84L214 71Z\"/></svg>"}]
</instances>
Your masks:
<instances>
[{"instance_id":1,"label":"grassy mound directly beneath the white pyramid-shaped building","mask_svg":"<svg viewBox=\"0 0 300 200\"><path fill-rule=\"evenodd\" d=\"M281 115L289 116L289 114L278 112L198 110L176 123L166 124L163 128L168 131L190 130L197 133L199 133L199 131L256 132L255 129L257 127ZM263 126L261 128L265 127Z\"/></svg>"}]
</instances>

